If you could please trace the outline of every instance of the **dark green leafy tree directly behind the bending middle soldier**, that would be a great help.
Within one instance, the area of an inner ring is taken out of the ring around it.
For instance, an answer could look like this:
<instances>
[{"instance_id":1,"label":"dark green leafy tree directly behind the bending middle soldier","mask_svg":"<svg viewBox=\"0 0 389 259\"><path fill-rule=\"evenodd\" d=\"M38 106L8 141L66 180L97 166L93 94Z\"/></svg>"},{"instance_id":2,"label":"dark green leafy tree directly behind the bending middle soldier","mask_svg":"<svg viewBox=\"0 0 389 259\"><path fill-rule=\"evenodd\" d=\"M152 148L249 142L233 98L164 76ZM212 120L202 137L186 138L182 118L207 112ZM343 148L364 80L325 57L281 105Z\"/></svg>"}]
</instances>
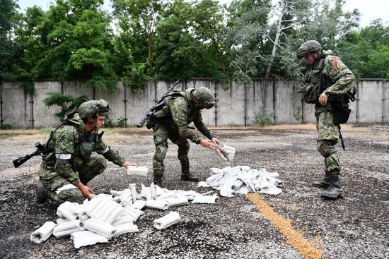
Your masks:
<instances>
[{"instance_id":1,"label":"dark green leafy tree directly behind the bending middle soldier","mask_svg":"<svg viewBox=\"0 0 389 259\"><path fill-rule=\"evenodd\" d=\"M156 70L159 78L225 78L222 15L216 1L176 0L157 26Z\"/></svg>"}]
</instances>

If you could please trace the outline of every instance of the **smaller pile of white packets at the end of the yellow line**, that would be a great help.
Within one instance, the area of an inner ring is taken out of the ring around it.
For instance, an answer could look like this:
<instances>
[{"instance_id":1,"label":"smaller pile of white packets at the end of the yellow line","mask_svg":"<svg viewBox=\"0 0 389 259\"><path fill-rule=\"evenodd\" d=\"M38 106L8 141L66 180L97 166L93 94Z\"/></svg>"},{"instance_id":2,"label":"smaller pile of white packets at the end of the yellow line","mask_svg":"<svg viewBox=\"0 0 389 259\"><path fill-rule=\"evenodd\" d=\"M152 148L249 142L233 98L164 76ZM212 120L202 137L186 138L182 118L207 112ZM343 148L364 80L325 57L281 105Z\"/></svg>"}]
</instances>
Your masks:
<instances>
[{"instance_id":1,"label":"smaller pile of white packets at the end of the yellow line","mask_svg":"<svg viewBox=\"0 0 389 259\"><path fill-rule=\"evenodd\" d=\"M277 172L268 172L248 166L211 168L211 176L206 181L200 181L199 187L211 187L220 191L223 197L233 197L233 194L265 193L278 195L279 187L284 186Z\"/></svg>"}]
</instances>

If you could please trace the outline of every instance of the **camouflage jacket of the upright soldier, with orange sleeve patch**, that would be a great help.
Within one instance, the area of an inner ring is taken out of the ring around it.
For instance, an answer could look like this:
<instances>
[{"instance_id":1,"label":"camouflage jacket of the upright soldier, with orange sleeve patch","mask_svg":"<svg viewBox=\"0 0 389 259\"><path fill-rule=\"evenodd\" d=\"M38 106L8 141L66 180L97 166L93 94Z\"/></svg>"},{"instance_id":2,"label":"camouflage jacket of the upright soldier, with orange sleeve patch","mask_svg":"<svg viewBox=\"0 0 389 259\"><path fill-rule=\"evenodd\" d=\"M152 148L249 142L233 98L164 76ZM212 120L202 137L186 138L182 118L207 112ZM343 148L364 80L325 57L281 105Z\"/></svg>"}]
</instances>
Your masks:
<instances>
[{"instance_id":1,"label":"camouflage jacket of the upright soldier, with orange sleeve patch","mask_svg":"<svg viewBox=\"0 0 389 259\"><path fill-rule=\"evenodd\" d=\"M315 75L316 74L316 75ZM310 71L306 73L306 81L313 83L316 77L320 85L320 92L325 92L328 101L342 101L347 92L355 87L355 76L352 71L331 51L324 51L321 59L311 66ZM325 107L316 104L316 112L333 110L331 104Z\"/></svg>"}]
</instances>

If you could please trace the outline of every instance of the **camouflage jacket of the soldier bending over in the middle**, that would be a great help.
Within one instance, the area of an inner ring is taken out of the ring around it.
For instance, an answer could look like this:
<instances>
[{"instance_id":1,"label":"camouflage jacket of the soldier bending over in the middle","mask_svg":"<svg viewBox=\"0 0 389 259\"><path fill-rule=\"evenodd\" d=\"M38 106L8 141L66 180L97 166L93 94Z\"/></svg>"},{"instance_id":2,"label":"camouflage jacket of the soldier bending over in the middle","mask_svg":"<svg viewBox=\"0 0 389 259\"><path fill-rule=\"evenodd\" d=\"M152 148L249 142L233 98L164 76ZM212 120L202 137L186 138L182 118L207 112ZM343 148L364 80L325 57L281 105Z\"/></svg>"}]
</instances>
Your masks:
<instances>
[{"instance_id":1,"label":"camouflage jacket of the soldier bending over in the middle","mask_svg":"<svg viewBox=\"0 0 389 259\"><path fill-rule=\"evenodd\" d=\"M178 127L180 135L183 138L192 140L193 143L199 144L202 138L188 127L188 124L192 121L197 130L207 138L214 138L214 133L209 131L204 125L201 110L192 103L193 91L194 88L188 88L185 92L182 92L182 94L185 94L185 97L177 95L170 96L166 97L165 102L168 104L170 115L175 125Z\"/></svg>"}]
</instances>

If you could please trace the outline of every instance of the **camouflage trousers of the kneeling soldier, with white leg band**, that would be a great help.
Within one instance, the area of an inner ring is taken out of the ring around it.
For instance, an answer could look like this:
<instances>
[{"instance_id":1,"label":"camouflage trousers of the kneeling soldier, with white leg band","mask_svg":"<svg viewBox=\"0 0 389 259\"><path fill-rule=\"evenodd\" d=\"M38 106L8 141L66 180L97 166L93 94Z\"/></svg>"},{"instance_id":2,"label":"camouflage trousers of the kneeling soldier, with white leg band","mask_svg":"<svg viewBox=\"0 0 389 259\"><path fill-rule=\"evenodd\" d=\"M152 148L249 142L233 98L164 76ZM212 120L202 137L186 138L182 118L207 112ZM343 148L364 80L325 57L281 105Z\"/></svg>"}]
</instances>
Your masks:
<instances>
[{"instance_id":1,"label":"camouflage trousers of the kneeling soldier, with white leg band","mask_svg":"<svg viewBox=\"0 0 389 259\"><path fill-rule=\"evenodd\" d=\"M88 183L107 168L107 161L103 157L89 157L86 160L76 157L73 164L73 169L78 172L79 179L83 184ZM58 204L65 201L80 203L85 199L79 188L59 175L54 167L48 167L45 163L42 163L38 174L43 186L50 191L49 198L54 202Z\"/></svg>"}]
</instances>

